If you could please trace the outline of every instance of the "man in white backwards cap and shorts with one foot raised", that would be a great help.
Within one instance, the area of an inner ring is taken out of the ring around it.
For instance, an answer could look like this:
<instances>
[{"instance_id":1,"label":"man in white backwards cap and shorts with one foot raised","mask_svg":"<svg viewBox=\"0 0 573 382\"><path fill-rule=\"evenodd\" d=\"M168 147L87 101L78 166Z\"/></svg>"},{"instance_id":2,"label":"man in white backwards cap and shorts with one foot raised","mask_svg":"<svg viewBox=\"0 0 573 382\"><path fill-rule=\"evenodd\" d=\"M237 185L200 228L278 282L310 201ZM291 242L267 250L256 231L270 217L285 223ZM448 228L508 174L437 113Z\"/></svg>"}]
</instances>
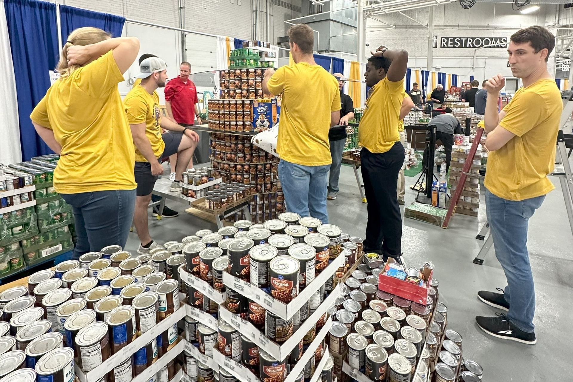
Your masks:
<instances>
[{"instance_id":1,"label":"man in white backwards cap and shorts with one foot raised","mask_svg":"<svg viewBox=\"0 0 573 382\"><path fill-rule=\"evenodd\" d=\"M199 136L190 128L161 117L159 96L155 89L163 88L167 81L165 61L159 57L148 57L141 62L139 69L140 73L136 77L142 78L141 84L127 93L123 104L135 144L134 172L138 187L134 225L141 242L138 253L148 254L152 249L159 247L149 234L147 207L155 181L163 174L160 159L174 153L178 154L175 180L171 183L170 191L181 191L182 173L187 170ZM162 128L174 133L162 135Z\"/></svg>"}]
</instances>

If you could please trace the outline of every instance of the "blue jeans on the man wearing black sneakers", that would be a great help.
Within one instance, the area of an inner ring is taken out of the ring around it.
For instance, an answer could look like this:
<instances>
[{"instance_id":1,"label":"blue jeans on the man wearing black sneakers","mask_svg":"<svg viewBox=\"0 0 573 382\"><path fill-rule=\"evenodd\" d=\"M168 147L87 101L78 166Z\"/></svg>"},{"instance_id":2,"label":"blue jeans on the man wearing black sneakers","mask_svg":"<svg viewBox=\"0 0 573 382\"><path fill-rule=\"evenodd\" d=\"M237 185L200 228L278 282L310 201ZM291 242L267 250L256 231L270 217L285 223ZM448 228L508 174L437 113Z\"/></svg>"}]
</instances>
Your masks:
<instances>
[{"instance_id":1,"label":"blue jeans on the man wearing black sneakers","mask_svg":"<svg viewBox=\"0 0 573 382\"><path fill-rule=\"evenodd\" d=\"M527 251L527 226L544 199L542 195L515 202L485 190L485 208L496 257L507 278L504 297L509 303L508 317L517 328L528 333L535 328L535 289Z\"/></svg>"}]
</instances>

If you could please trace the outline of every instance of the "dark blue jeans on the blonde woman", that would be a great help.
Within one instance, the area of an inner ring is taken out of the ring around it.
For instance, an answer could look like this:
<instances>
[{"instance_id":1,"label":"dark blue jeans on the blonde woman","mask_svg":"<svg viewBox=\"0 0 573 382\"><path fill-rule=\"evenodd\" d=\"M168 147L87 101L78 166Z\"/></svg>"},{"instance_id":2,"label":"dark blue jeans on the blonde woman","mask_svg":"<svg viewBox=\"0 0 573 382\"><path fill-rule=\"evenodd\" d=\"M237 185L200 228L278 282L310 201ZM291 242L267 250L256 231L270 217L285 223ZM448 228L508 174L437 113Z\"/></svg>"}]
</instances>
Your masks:
<instances>
[{"instance_id":1,"label":"dark blue jeans on the blonde woman","mask_svg":"<svg viewBox=\"0 0 573 382\"><path fill-rule=\"evenodd\" d=\"M80 192L61 196L72 206L76 220L75 259L108 245L125 247L134 218L135 190Z\"/></svg>"}]
</instances>

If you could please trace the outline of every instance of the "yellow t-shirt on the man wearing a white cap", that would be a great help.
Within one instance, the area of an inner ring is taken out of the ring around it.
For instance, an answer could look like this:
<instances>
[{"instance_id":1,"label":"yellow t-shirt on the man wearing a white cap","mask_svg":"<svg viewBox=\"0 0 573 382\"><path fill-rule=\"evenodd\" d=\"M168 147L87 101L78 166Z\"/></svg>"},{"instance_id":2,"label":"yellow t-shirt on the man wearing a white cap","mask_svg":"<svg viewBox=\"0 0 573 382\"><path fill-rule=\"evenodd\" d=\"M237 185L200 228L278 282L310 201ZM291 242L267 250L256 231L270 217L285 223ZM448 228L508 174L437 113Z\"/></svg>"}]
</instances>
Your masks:
<instances>
[{"instance_id":1,"label":"yellow t-shirt on the man wearing a white cap","mask_svg":"<svg viewBox=\"0 0 573 382\"><path fill-rule=\"evenodd\" d=\"M159 96L156 92L150 94L141 86L129 90L123 100L127 121L130 124L145 123L145 135L151 143L151 149L156 158L159 158L165 148L161 138L161 111L159 110ZM135 148L135 162L148 162L142 153Z\"/></svg>"}]
</instances>

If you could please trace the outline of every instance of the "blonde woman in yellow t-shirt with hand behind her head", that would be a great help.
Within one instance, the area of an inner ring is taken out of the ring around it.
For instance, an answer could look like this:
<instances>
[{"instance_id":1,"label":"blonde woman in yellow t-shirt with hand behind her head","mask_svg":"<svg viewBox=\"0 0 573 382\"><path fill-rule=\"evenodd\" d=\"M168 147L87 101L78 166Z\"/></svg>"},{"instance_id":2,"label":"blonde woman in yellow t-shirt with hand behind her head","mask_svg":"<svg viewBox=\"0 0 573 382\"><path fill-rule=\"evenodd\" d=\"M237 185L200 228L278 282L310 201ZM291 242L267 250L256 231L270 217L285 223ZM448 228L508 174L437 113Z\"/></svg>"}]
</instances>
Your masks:
<instances>
[{"instance_id":1,"label":"blonde woman in yellow t-shirt with hand behind her head","mask_svg":"<svg viewBox=\"0 0 573 382\"><path fill-rule=\"evenodd\" d=\"M74 257L125 246L135 206L134 143L117 84L139 52L135 37L82 27L68 36L60 78L30 115L60 155L54 187L73 208Z\"/></svg>"}]
</instances>

